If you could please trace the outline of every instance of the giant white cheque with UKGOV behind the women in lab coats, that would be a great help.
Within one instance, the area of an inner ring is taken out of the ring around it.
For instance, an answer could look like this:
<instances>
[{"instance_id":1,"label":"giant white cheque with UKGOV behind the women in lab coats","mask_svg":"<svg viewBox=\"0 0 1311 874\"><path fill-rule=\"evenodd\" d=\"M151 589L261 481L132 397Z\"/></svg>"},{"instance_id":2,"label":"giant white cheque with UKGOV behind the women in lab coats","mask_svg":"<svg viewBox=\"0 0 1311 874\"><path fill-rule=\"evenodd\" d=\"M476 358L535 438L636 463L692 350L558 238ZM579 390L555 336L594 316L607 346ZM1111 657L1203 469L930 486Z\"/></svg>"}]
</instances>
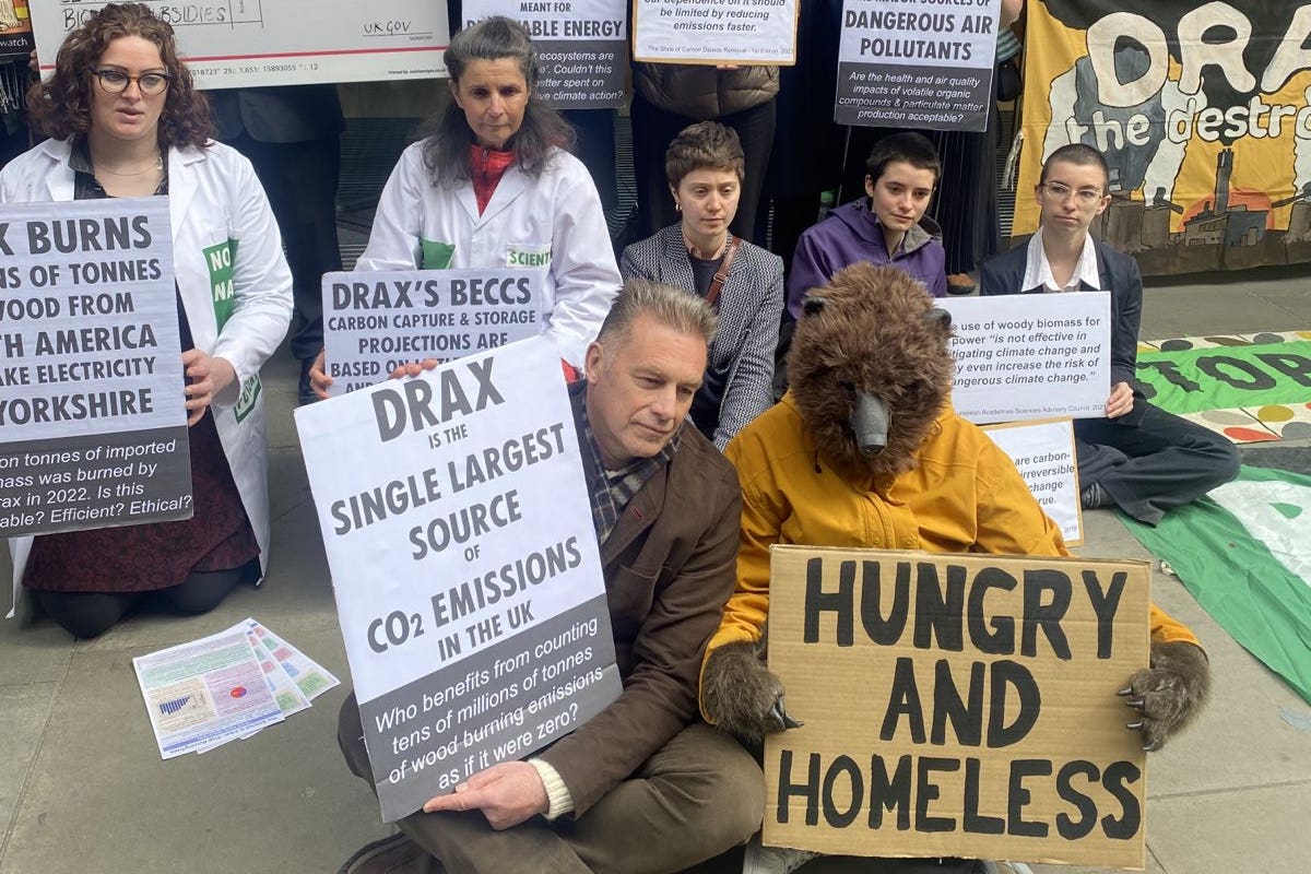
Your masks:
<instances>
[{"instance_id":1,"label":"giant white cheque with UKGOV behind the women in lab coats","mask_svg":"<svg viewBox=\"0 0 1311 874\"><path fill-rule=\"evenodd\" d=\"M446 4L427 0L144 0L173 25L197 88L446 76ZM45 76L64 37L106 0L37 0Z\"/></svg>"}]
</instances>

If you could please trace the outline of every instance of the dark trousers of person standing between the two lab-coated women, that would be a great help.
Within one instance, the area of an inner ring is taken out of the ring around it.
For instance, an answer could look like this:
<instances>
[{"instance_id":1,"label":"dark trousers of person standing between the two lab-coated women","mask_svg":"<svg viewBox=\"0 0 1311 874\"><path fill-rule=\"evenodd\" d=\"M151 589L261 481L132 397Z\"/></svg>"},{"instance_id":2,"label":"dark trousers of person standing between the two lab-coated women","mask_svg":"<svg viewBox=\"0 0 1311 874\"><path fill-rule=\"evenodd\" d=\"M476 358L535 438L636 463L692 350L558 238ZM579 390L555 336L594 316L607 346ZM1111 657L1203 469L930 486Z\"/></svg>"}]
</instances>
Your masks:
<instances>
[{"instance_id":1,"label":"dark trousers of person standing between the two lab-coated women","mask_svg":"<svg viewBox=\"0 0 1311 874\"><path fill-rule=\"evenodd\" d=\"M254 164L282 232L291 267L295 320L291 354L302 362L324 346L323 275L341 270L337 245L337 176L341 138L260 143L243 132L231 140Z\"/></svg>"}]
</instances>

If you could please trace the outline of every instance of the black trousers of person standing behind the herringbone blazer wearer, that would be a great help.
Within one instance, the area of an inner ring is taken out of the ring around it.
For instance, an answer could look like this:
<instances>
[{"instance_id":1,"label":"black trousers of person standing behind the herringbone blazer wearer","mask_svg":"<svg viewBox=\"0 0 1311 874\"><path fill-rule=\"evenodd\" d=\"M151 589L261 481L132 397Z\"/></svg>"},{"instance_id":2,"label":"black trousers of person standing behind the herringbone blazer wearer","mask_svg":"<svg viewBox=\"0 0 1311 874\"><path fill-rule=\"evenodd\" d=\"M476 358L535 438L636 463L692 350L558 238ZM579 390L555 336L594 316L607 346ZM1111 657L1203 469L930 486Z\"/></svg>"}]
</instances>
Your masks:
<instances>
[{"instance_id":1,"label":"black trousers of person standing behind the herringbone blazer wearer","mask_svg":"<svg viewBox=\"0 0 1311 874\"><path fill-rule=\"evenodd\" d=\"M742 195L738 198L737 218L729 228L737 236L755 244L763 242L755 238L755 212L760 206L760 189L764 186L764 170L770 165L770 149L773 148L773 118L775 106L771 98L759 106L714 119L737 131L746 159L746 180L742 182ZM669 178L665 176L665 152L669 151L670 140L696 121L663 110L640 94L633 94L633 180L637 186L638 240L645 240L661 228L678 221L674 197L669 193Z\"/></svg>"}]
</instances>

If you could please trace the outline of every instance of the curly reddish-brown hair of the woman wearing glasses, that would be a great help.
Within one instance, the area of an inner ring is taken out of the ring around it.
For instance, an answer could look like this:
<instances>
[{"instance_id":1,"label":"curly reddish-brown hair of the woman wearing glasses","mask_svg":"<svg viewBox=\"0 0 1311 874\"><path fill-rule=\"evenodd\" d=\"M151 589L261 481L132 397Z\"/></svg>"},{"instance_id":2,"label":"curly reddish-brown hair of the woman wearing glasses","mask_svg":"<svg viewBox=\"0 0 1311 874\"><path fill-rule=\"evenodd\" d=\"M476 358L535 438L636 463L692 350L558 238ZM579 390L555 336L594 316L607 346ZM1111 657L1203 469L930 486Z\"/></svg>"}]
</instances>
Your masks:
<instances>
[{"instance_id":1,"label":"curly reddish-brown hair of the woman wearing glasses","mask_svg":"<svg viewBox=\"0 0 1311 874\"><path fill-rule=\"evenodd\" d=\"M143 3L110 3L68 34L55 55L55 73L31 86L28 113L33 127L55 139L90 130L92 67L109 43L140 37L155 43L164 68L173 76L160 113L161 147L203 147L211 134L210 105L191 84L191 72L177 58L173 26Z\"/></svg>"}]
</instances>

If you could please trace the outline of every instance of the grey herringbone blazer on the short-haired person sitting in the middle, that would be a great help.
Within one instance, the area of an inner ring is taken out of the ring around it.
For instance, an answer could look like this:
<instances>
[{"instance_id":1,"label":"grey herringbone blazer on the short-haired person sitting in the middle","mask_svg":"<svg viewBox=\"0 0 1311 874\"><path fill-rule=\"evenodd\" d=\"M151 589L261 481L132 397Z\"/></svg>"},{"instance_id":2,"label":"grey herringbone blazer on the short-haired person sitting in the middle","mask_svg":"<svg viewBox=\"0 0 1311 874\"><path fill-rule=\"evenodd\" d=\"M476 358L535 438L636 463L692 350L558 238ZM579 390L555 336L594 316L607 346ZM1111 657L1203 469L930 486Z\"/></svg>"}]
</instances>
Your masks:
<instances>
[{"instance_id":1,"label":"grey herringbone blazer on the short-haired person sitting in the middle","mask_svg":"<svg viewBox=\"0 0 1311 874\"><path fill-rule=\"evenodd\" d=\"M692 262L678 224L624 249L624 278L641 276L696 294ZM720 332L711 345L711 368L728 368L714 446L729 439L772 402L773 350L783 314L783 258L742 241L720 291Z\"/></svg>"}]
</instances>

